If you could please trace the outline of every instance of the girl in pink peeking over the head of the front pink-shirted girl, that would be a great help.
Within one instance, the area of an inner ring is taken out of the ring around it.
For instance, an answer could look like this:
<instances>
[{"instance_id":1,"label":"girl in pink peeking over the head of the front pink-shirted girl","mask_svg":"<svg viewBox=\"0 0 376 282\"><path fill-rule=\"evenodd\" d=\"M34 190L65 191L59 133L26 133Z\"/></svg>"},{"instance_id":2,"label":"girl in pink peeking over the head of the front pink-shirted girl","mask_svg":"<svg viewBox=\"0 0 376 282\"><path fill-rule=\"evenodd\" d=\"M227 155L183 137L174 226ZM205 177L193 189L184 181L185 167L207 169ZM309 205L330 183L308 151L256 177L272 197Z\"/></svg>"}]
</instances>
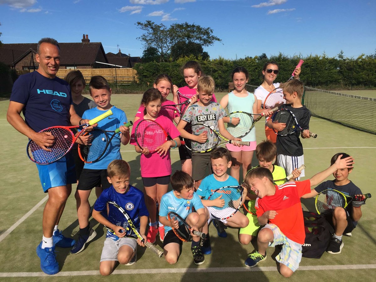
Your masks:
<instances>
[{"instance_id":1,"label":"girl in pink peeking over the head of the front pink-shirted girl","mask_svg":"<svg viewBox=\"0 0 376 282\"><path fill-rule=\"evenodd\" d=\"M159 74L159 76L157 76L155 81L154 81L153 87L158 89L159 92L161 92L161 94L162 94L162 106L175 105L174 102L167 100L167 96L168 96L168 94L170 94L170 91L171 90L173 91L173 93L174 93L173 95L177 95L176 92L177 92L177 89L178 89L178 87L176 85L172 84L172 80L171 80L170 76L168 76L165 73ZM137 110L137 113L136 113L135 119L133 120L133 123L135 123L140 118L144 117L145 114L146 114L145 106L141 104L140 107ZM169 115L166 115L166 116L171 119L171 117Z\"/></svg>"}]
</instances>

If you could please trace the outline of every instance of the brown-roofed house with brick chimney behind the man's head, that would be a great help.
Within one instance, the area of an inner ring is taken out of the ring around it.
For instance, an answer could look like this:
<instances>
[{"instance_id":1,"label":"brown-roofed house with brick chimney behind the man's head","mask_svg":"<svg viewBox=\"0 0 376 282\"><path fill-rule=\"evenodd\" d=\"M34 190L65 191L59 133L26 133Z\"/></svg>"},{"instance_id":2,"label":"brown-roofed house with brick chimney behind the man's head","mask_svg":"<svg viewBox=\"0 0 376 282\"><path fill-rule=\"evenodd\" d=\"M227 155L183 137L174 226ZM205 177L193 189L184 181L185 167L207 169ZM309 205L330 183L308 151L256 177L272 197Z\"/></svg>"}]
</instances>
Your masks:
<instances>
[{"instance_id":1,"label":"brown-roofed house with brick chimney behind the man's head","mask_svg":"<svg viewBox=\"0 0 376 282\"><path fill-rule=\"evenodd\" d=\"M60 69L106 68L96 62L108 63L101 42L90 42L88 35L83 35L81 42L59 43ZM0 48L0 62L17 71L36 70L37 43L3 44Z\"/></svg>"}]
</instances>

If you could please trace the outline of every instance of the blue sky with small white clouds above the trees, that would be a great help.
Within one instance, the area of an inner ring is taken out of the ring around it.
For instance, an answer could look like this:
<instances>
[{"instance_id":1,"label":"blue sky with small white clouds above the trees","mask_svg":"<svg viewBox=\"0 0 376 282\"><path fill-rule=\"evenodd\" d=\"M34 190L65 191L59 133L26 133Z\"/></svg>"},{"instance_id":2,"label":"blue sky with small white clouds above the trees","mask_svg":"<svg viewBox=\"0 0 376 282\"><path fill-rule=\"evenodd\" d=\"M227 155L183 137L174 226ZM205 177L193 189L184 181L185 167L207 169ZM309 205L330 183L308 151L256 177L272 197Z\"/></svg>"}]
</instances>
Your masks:
<instances>
[{"instance_id":1,"label":"blue sky with small white clouds above the trees","mask_svg":"<svg viewBox=\"0 0 376 282\"><path fill-rule=\"evenodd\" d=\"M205 47L210 58L265 53L348 58L376 51L374 0L0 0L0 40L33 43L102 42L105 52L142 56L137 21L211 27L222 41Z\"/></svg>"}]
</instances>

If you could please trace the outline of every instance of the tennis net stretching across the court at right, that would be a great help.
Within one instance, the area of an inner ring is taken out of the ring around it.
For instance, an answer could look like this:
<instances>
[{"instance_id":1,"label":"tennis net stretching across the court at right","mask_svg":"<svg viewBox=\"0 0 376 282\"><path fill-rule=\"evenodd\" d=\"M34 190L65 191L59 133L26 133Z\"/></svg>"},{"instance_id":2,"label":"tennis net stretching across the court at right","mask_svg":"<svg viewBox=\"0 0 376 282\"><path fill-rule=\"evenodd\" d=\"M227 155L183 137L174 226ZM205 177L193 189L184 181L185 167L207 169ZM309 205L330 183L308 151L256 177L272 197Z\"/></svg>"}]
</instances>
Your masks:
<instances>
[{"instance_id":1,"label":"tennis net stretching across the court at right","mask_svg":"<svg viewBox=\"0 0 376 282\"><path fill-rule=\"evenodd\" d=\"M257 87L247 84L247 91ZM314 117L376 134L375 98L305 87L302 102Z\"/></svg>"}]
</instances>

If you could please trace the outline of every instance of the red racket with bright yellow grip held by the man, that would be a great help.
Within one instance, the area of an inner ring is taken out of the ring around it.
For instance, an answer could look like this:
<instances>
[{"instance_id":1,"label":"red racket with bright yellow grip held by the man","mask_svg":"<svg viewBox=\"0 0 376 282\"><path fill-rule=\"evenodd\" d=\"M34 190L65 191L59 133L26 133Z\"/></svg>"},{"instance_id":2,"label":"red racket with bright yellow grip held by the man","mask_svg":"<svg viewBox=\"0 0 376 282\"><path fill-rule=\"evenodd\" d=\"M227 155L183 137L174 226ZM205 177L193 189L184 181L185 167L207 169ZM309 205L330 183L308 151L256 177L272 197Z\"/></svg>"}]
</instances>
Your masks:
<instances>
[{"instance_id":1,"label":"red racket with bright yellow grip held by the man","mask_svg":"<svg viewBox=\"0 0 376 282\"><path fill-rule=\"evenodd\" d=\"M26 146L27 156L31 161L39 165L52 164L64 157L72 149L77 138L84 133L84 131L81 130L76 136L74 136L72 129L84 129L85 127L91 126L110 115L112 115L112 111L108 110L104 114L93 118L89 123L78 126L52 126L43 129L39 132L50 132L55 138L55 143L53 143L51 147L48 147L50 151L46 151L30 139Z\"/></svg>"}]
</instances>

